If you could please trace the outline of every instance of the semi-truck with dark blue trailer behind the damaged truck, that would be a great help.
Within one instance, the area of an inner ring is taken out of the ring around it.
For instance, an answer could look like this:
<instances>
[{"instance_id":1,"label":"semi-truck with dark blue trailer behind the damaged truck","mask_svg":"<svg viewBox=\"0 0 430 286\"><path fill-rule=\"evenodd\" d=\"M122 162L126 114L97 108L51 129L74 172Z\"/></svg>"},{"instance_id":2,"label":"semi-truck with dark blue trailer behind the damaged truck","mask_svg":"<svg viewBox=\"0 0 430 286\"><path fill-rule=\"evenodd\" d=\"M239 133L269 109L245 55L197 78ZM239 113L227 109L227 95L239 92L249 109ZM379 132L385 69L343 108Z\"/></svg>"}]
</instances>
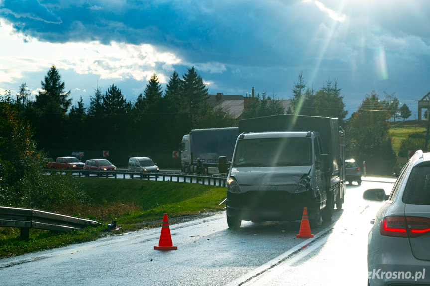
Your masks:
<instances>
[{"instance_id":1,"label":"semi-truck with dark blue trailer behind the damaged truck","mask_svg":"<svg viewBox=\"0 0 430 286\"><path fill-rule=\"evenodd\" d=\"M181 171L219 173L218 159L223 156L224 160L231 161L238 130L238 127L193 129L184 135L179 147Z\"/></svg>"}]
</instances>

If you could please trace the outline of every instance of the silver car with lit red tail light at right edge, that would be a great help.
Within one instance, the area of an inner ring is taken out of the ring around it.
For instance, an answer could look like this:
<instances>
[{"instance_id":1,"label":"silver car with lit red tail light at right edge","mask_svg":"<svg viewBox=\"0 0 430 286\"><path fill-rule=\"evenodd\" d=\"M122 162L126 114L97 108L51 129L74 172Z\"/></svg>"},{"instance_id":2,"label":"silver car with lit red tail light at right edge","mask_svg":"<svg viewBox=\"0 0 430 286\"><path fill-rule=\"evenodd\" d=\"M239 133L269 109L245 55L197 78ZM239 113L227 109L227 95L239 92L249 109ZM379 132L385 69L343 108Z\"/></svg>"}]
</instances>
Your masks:
<instances>
[{"instance_id":1,"label":"silver car with lit red tail light at right edge","mask_svg":"<svg viewBox=\"0 0 430 286\"><path fill-rule=\"evenodd\" d=\"M369 189L363 198L385 201L369 232L369 285L430 285L430 153L415 152L390 195Z\"/></svg>"}]
</instances>

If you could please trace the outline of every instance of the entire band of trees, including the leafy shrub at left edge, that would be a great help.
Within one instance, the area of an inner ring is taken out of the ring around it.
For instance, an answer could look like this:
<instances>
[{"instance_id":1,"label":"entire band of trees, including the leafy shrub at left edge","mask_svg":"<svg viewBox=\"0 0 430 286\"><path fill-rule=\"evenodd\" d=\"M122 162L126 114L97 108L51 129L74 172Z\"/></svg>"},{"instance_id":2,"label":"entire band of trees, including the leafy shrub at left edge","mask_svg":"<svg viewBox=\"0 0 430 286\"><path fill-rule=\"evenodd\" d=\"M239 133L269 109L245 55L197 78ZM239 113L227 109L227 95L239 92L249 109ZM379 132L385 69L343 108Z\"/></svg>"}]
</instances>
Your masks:
<instances>
[{"instance_id":1,"label":"entire band of trees, including the leafy shrub at left edge","mask_svg":"<svg viewBox=\"0 0 430 286\"><path fill-rule=\"evenodd\" d=\"M73 105L55 66L41 87L34 100L25 83L16 96L10 91L0 96L0 205L63 212L67 208L66 213L73 213L78 204L85 203L85 195L71 176L44 175L47 156L85 151L85 159L92 159L101 157L102 150L110 150L113 156L109 159L117 165L127 164L130 156L148 155L165 162L163 167L179 167L171 151L177 150L182 136L191 129L232 127L238 125L238 119L283 113L337 117L346 130L347 157L366 161L368 174L388 175L396 168L388 121L396 113L392 104L397 99L380 100L371 92L345 119L337 79L327 80L315 91L299 73L287 110L275 95L263 91L248 98L237 119L227 110L210 106L208 89L194 67L182 78L173 72L164 92L154 74L133 102L112 84L105 92L95 89L89 106L82 97ZM406 150L418 149L416 145L414 138L402 142Z\"/></svg>"}]
</instances>

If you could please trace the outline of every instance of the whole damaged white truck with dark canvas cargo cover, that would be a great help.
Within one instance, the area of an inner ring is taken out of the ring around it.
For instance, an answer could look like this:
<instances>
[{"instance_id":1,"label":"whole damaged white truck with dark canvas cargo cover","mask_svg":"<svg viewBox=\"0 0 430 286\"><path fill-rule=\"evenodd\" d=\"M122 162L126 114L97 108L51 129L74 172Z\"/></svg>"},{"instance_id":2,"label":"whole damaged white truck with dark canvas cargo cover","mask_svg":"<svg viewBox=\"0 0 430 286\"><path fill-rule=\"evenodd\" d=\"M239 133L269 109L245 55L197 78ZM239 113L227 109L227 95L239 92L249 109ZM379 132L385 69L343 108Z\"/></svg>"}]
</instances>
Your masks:
<instances>
[{"instance_id":1,"label":"whole damaged white truck with dark canvas cargo cover","mask_svg":"<svg viewBox=\"0 0 430 286\"><path fill-rule=\"evenodd\" d=\"M331 221L345 195L345 132L336 118L275 115L239 121L227 175L227 224ZM224 168L225 166L219 168Z\"/></svg>"}]
</instances>

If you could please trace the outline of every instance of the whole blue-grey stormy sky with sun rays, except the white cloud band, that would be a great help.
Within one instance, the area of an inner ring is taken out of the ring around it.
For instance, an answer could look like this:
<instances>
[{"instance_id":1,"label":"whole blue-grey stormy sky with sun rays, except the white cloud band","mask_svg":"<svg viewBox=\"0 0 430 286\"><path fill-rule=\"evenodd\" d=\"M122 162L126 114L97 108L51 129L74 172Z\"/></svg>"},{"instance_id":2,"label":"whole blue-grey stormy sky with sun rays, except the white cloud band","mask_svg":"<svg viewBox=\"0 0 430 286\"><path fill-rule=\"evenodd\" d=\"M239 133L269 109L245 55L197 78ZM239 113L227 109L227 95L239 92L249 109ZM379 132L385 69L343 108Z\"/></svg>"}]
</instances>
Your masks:
<instances>
[{"instance_id":1,"label":"whole blue-grey stormy sky with sun rays, except the white cloud band","mask_svg":"<svg viewBox=\"0 0 430 286\"><path fill-rule=\"evenodd\" d=\"M0 18L39 41L151 44L180 75L195 65L211 93L289 99L300 71L315 89L338 78L347 104L430 89L428 0L0 0Z\"/></svg>"}]
</instances>

